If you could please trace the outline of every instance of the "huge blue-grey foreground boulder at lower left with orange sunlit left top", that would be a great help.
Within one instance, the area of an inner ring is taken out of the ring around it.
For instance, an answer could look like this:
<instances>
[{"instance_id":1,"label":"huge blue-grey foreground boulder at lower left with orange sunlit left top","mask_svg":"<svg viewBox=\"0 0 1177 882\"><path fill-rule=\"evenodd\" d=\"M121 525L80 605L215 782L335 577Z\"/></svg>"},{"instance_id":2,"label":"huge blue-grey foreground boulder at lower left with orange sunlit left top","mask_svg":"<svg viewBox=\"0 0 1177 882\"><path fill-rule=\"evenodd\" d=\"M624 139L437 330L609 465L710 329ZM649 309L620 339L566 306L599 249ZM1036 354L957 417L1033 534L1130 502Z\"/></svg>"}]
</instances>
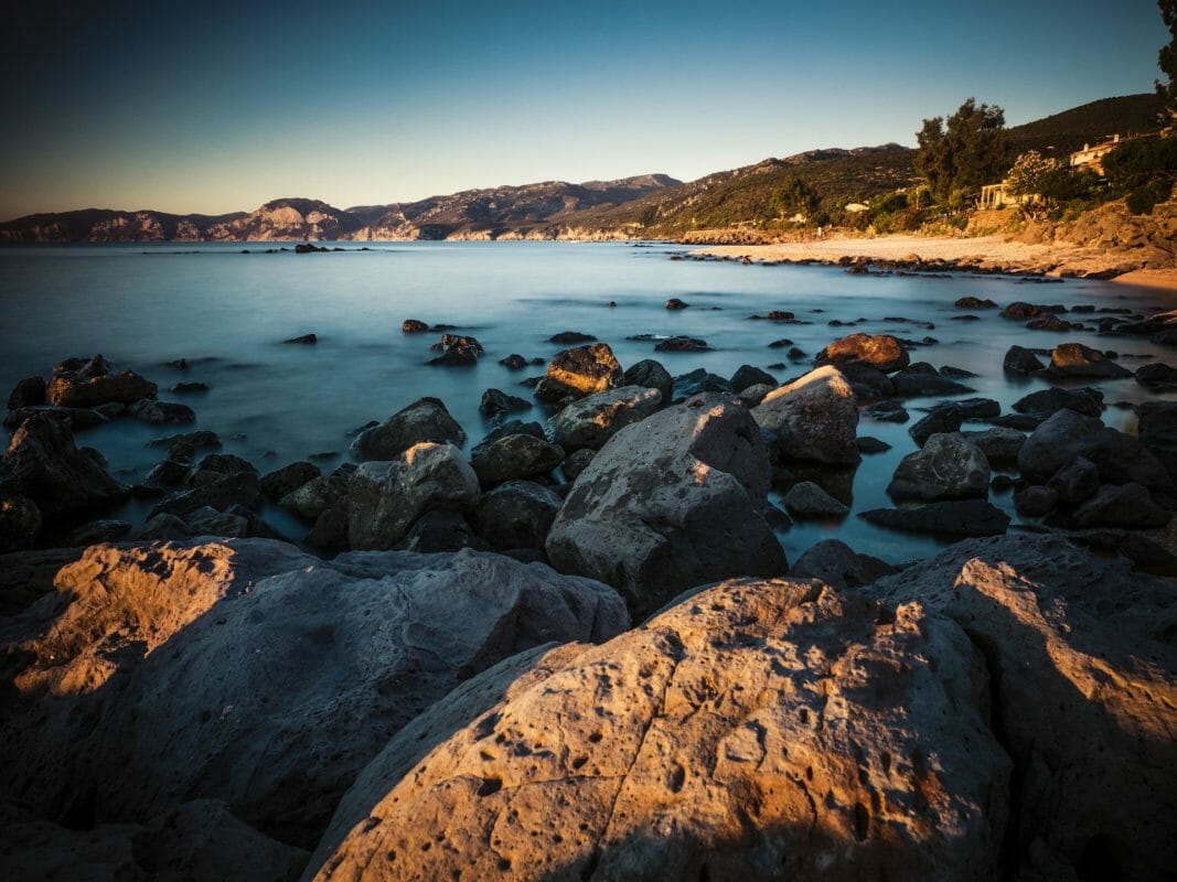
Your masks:
<instances>
[{"instance_id":1,"label":"huge blue-grey foreground boulder at lower left with orange sunlit left top","mask_svg":"<svg viewBox=\"0 0 1177 882\"><path fill-rule=\"evenodd\" d=\"M627 626L605 586L471 552L325 562L264 540L95 546L56 588L58 607L8 647L9 793L42 810L80 794L97 822L213 797L298 846L463 680Z\"/></svg>"}]
</instances>

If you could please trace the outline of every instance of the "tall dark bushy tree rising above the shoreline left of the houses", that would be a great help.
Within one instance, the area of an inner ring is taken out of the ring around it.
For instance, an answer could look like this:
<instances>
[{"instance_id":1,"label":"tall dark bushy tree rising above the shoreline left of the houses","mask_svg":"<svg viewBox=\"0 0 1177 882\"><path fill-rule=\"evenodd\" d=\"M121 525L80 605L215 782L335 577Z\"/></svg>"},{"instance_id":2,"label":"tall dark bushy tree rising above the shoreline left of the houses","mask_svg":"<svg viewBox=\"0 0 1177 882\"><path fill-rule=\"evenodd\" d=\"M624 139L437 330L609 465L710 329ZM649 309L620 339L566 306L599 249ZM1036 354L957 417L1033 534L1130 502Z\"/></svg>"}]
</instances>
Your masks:
<instances>
[{"instance_id":1,"label":"tall dark bushy tree rising above the shoreline left of the houses","mask_svg":"<svg viewBox=\"0 0 1177 882\"><path fill-rule=\"evenodd\" d=\"M970 98L946 126L942 116L924 120L916 138L916 171L942 201L953 192L973 192L999 180L1009 167L1005 112L996 105L978 105Z\"/></svg>"}]
</instances>

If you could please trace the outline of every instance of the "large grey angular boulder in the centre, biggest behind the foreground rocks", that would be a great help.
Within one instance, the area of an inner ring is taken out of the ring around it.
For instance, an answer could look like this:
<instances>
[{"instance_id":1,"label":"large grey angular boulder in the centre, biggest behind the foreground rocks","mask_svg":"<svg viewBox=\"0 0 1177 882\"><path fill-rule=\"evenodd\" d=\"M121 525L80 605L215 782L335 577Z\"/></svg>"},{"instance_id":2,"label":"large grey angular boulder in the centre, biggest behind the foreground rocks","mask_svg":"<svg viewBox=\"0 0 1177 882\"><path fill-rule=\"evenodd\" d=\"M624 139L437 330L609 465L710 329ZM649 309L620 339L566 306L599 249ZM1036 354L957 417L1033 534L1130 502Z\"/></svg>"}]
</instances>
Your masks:
<instances>
[{"instance_id":1,"label":"large grey angular boulder in the centre, biggest behind the foreground rocks","mask_svg":"<svg viewBox=\"0 0 1177 882\"><path fill-rule=\"evenodd\" d=\"M593 457L547 536L548 560L613 584L636 613L716 579L783 573L760 514L770 474L747 410L689 399L621 429Z\"/></svg>"}]
</instances>

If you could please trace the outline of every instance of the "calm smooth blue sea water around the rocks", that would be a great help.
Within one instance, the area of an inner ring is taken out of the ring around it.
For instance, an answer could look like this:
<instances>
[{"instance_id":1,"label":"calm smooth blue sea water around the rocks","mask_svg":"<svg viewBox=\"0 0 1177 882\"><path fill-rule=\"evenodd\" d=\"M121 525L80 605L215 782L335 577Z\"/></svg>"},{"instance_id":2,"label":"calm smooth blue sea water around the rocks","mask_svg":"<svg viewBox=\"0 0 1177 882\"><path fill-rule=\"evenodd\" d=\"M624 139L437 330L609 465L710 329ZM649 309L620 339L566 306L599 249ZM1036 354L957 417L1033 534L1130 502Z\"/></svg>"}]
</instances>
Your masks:
<instances>
[{"instance_id":1,"label":"calm smooth blue sea water around the rocks","mask_svg":"<svg viewBox=\"0 0 1177 882\"><path fill-rule=\"evenodd\" d=\"M241 254L248 247L251 254ZM490 430L478 413L486 388L528 396L518 386L543 368L510 372L499 359L520 353L552 356L564 348L546 342L560 330L579 330L607 341L623 366L658 358L671 372L706 368L730 376L740 365L766 367L784 360L767 343L789 338L817 353L831 340L860 329L898 336L936 338L913 353L937 367L953 365L980 376L967 381L972 395L993 397L1005 409L1045 388L1039 380L1016 381L1002 372L1012 343L1051 347L1077 340L1115 348L1136 368L1145 358L1172 360L1143 340L1098 338L1090 333L1032 332L995 310L982 321L958 322L952 302L960 296L1039 303L1095 303L1141 310L1173 308L1177 296L1096 281L1036 285L1016 279L957 275L937 278L853 276L831 267L762 267L727 262L670 261L684 248L654 245L563 242L421 242L372 245L370 252L295 255L258 253L268 245L133 245L0 249L0 390L31 374L48 376L58 361L101 353L160 386L160 397L197 410L197 427L213 429L225 452L267 472L312 454L337 453L325 468L347 457L358 427L384 420L421 395L444 400L470 435ZM347 245L352 248L353 246ZM358 246L355 246L358 247ZM691 308L669 312L677 296ZM607 307L616 301L616 307ZM752 313L787 309L811 325L749 321ZM936 326L887 321L887 316ZM404 335L404 319L457 325L477 336L486 356L476 368L427 367L434 334ZM829 321L865 318L856 328ZM1082 316L1080 316L1082 318ZM318 346L285 346L282 340L315 333ZM636 334L686 334L712 347L707 353L653 353ZM165 367L186 358L187 372ZM772 373L785 380L804 365ZM179 381L206 382L200 395L167 393ZM1132 380L1105 385L1112 405L1105 422L1131 430L1135 417L1117 402L1138 402L1149 393ZM970 395L970 396L972 396ZM918 408L933 400L911 400ZM539 406L524 419L543 420ZM899 459L913 449L911 423L864 420L859 434L892 445L866 456L853 479L853 512L890 506L884 489ZM141 477L161 457L147 448L153 437L192 427L155 428L121 420L79 434L79 443L100 449L121 480ZM965 428L984 428L966 426ZM992 501L1011 514L1009 494ZM125 515L141 519L145 506ZM292 537L299 527L280 512L267 519ZM1017 519L1016 519L1017 520ZM305 528L304 528L305 529ZM931 539L867 526L853 514L842 523L799 523L780 535L790 560L814 542L837 536L857 550L903 561L935 552Z\"/></svg>"}]
</instances>

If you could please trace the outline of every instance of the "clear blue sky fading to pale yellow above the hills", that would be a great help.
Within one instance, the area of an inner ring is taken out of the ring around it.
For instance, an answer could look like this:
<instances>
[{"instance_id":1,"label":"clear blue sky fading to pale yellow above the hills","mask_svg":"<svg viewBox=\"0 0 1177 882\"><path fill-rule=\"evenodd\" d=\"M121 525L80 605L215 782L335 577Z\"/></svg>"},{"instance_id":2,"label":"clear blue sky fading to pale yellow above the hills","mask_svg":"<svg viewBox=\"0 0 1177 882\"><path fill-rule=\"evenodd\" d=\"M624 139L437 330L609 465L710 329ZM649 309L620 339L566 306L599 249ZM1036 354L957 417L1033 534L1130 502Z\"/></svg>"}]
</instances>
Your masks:
<instances>
[{"instance_id":1,"label":"clear blue sky fading to pale yellow above the hills","mask_svg":"<svg viewBox=\"0 0 1177 882\"><path fill-rule=\"evenodd\" d=\"M691 180L1148 92L1169 39L1153 0L6 7L0 219Z\"/></svg>"}]
</instances>

